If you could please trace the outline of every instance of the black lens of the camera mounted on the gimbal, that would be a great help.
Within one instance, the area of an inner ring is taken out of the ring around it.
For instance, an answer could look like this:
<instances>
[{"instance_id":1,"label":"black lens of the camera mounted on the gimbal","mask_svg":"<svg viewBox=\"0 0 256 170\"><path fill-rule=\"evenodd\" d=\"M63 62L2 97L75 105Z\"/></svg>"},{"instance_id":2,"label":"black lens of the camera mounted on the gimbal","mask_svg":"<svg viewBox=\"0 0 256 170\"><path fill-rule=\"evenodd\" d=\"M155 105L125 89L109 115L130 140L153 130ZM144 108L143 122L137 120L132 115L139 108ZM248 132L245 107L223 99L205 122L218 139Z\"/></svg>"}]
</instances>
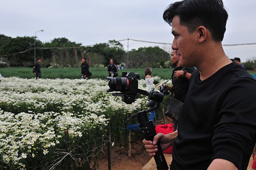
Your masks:
<instances>
[{"instance_id":1,"label":"black lens of the camera mounted on the gimbal","mask_svg":"<svg viewBox=\"0 0 256 170\"><path fill-rule=\"evenodd\" d=\"M107 92L121 91L126 92L129 81L126 77L107 77L110 81L108 82L109 89Z\"/></svg>"}]
</instances>

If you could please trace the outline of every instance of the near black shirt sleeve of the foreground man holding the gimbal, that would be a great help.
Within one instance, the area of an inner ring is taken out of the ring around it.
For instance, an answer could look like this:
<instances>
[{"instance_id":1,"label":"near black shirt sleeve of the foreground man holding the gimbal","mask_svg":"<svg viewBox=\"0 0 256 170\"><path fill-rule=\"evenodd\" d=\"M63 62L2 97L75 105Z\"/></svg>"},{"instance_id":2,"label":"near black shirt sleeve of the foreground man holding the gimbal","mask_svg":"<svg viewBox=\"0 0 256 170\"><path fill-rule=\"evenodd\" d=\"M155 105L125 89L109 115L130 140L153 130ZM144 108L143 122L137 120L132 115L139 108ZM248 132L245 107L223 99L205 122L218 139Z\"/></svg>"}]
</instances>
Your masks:
<instances>
[{"instance_id":1,"label":"near black shirt sleeve of the foreground man holding the gimbal","mask_svg":"<svg viewBox=\"0 0 256 170\"><path fill-rule=\"evenodd\" d=\"M247 84L244 86L244 84ZM233 162L246 169L256 138L256 82L239 78L230 82L220 101L220 119L214 126L215 158Z\"/></svg>"}]
</instances>

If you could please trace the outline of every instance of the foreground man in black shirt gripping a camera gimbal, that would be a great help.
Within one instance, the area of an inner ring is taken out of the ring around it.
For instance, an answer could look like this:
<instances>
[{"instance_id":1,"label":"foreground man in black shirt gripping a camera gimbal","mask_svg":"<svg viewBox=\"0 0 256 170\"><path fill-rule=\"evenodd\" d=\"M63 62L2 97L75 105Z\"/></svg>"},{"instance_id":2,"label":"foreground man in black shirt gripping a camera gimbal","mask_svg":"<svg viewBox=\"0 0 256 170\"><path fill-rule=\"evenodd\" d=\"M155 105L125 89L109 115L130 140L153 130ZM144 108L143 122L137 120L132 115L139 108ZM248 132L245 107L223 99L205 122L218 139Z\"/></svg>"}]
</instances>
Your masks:
<instances>
[{"instance_id":1,"label":"foreground man in black shirt gripping a camera gimbal","mask_svg":"<svg viewBox=\"0 0 256 170\"><path fill-rule=\"evenodd\" d=\"M179 64L195 66L178 130L143 140L155 156L173 146L171 170L246 170L256 142L256 80L224 53L222 0L183 0L163 14Z\"/></svg>"}]
</instances>

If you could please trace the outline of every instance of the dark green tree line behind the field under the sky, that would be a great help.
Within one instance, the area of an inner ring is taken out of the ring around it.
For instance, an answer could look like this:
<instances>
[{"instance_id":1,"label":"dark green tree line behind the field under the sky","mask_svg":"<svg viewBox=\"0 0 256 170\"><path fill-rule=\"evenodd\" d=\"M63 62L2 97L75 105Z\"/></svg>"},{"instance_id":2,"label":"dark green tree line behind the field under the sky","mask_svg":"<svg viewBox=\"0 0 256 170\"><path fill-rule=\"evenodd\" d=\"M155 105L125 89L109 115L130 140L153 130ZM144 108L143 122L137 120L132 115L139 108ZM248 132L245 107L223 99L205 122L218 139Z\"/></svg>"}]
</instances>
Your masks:
<instances>
[{"instance_id":1,"label":"dark green tree line behind the field under the sky","mask_svg":"<svg viewBox=\"0 0 256 170\"><path fill-rule=\"evenodd\" d=\"M65 37L43 43L36 37L8 37L0 34L0 67L33 67L36 58L42 59L42 67L80 67L81 58L86 58L90 67L106 67L110 58L115 63L129 68L170 67L170 54L158 46L140 47L127 53L116 40L83 46ZM2 62L1 62L2 60Z\"/></svg>"}]
</instances>

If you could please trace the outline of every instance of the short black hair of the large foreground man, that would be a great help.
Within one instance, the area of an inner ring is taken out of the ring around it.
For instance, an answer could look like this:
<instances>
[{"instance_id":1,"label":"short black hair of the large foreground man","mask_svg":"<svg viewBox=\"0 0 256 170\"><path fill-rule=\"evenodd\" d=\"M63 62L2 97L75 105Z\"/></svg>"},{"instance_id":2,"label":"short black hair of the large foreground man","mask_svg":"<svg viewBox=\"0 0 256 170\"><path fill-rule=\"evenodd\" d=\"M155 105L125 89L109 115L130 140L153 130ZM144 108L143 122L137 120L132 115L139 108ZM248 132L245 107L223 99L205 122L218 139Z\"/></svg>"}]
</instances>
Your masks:
<instances>
[{"instance_id":1,"label":"short black hair of the large foreground man","mask_svg":"<svg viewBox=\"0 0 256 170\"><path fill-rule=\"evenodd\" d=\"M199 26L206 27L216 42L223 40L228 13L222 0L183 0L170 4L163 13L163 19L171 25L174 16L180 24L193 33Z\"/></svg>"}]
</instances>

